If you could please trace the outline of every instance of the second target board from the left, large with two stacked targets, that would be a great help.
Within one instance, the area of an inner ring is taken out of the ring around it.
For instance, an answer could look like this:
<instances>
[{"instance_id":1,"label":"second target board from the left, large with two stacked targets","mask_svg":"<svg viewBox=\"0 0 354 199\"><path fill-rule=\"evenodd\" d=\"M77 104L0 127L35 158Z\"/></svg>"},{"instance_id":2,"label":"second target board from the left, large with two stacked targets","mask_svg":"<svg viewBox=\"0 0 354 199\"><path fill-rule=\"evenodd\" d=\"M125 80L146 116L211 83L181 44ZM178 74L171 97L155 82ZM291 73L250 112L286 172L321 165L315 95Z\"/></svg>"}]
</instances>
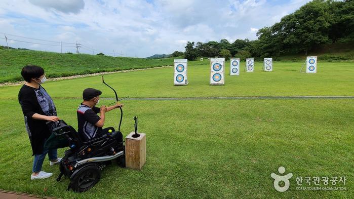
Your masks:
<instances>
[{"instance_id":1,"label":"second target board from the left, large with two stacked targets","mask_svg":"<svg viewBox=\"0 0 354 199\"><path fill-rule=\"evenodd\" d=\"M210 85L224 85L225 58L210 59Z\"/></svg>"}]
</instances>

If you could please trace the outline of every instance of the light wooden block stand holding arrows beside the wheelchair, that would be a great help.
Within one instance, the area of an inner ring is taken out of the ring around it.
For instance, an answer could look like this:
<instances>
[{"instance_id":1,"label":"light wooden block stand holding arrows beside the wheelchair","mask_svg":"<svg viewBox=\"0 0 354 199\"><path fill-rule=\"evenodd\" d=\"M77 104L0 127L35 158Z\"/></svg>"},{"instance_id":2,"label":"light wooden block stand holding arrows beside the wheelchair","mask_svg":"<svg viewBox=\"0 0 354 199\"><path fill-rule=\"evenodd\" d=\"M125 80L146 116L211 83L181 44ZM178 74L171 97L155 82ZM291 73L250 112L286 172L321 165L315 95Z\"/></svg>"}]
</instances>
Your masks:
<instances>
[{"instance_id":1,"label":"light wooden block stand holding arrows beside the wheelchair","mask_svg":"<svg viewBox=\"0 0 354 199\"><path fill-rule=\"evenodd\" d=\"M137 138L132 137L134 134L126 137L126 167L141 170L146 161L146 134L139 133Z\"/></svg>"}]
</instances>

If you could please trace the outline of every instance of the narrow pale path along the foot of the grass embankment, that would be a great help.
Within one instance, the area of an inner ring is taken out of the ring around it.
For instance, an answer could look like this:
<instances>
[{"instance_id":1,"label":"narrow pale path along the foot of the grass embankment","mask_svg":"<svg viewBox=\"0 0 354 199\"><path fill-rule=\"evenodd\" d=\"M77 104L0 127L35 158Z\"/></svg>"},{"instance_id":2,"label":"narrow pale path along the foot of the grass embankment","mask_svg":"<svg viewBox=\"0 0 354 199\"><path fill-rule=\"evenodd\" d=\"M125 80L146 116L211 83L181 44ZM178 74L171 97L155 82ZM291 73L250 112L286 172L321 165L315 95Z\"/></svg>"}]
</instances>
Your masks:
<instances>
[{"instance_id":1,"label":"narrow pale path along the foot of the grass embankment","mask_svg":"<svg viewBox=\"0 0 354 199\"><path fill-rule=\"evenodd\" d=\"M80 77L86 77L86 76L99 76L99 75L103 75L103 74L131 72L131 71L138 71L138 70L149 70L149 69L156 69L156 68L169 68L169 67L172 67L172 65L171 66L153 67L153 68L139 68L139 69L131 69L131 70L118 70L118 71L110 71L110 72L98 72L98 73L91 73L91 74L63 76L63 77L49 78L48 81L59 81L59 80L63 80L63 79L74 79L74 78L80 78ZM13 82L13 83L3 83L3 84L0 84L0 87L2 87L2 86L17 86L17 85L22 85L24 83L25 83L25 81Z\"/></svg>"}]
</instances>

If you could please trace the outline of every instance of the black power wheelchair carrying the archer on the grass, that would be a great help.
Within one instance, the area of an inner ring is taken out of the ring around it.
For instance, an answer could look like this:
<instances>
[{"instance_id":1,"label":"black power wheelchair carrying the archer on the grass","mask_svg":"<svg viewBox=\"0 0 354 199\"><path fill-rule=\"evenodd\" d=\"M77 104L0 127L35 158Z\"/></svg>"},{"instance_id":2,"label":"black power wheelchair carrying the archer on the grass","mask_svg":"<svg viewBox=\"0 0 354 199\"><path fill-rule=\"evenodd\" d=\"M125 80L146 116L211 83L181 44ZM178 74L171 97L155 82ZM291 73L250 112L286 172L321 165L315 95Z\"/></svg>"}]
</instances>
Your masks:
<instances>
[{"instance_id":1,"label":"black power wheelchair carrying the archer on the grass","mask_svg":"<svg viewBox=\"0 0 354 199\"><path fill-rule=\"evenodd\" d=\"M63 148L65 150L57 181L64 175L70 179L67 190L87 191L100 180L101 170L116 160L120 167L125 167L125 145L120 131L104 134L85 142L76 130L64 121L48 122L52 126L52 135L45 143L45 148Z\"/></svg>"}]
</instances>

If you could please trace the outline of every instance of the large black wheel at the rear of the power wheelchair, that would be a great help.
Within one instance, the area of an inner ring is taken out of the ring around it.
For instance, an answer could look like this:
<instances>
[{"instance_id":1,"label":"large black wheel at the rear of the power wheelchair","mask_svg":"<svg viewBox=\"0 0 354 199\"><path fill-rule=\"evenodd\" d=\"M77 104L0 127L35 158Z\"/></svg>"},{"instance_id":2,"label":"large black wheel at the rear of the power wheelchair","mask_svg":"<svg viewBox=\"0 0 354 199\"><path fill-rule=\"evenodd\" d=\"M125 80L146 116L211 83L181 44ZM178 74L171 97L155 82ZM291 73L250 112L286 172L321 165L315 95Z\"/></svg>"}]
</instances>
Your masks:
<instances>
[{"instance_id":1,"label":"large black wheel at the rear of the power wheelchair","mask_svg":"<svg viewBox=\"0 0 354 199\"><path fill-rule=\"evenodd\" d=\"M84 192L95 186L100 180L101 172L97 166L88 166L80 171L71 179L70 187L73 191Z\"/></svg>"}]
</instances>

